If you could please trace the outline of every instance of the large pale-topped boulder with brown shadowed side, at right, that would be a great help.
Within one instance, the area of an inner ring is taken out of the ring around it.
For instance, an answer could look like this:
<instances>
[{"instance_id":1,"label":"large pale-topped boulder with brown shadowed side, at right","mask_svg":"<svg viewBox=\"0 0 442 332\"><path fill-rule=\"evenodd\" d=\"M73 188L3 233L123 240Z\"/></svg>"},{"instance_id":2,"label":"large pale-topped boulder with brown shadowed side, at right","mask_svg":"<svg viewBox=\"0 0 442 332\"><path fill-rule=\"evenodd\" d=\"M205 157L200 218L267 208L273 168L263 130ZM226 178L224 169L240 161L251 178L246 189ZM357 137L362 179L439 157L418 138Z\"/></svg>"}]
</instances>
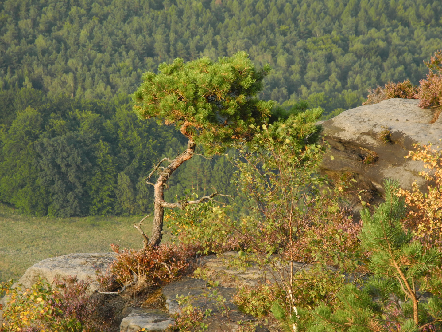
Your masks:
<instances>
[{"instance_id":1,"label":"large pale-topped boulder with brown shadowed side, at right","mask_svg":"<svg viewBox=\"0 0 442 332\"><path fill-rule=\"evenodd\" d=\"M326 121L323 134L331 150L324 157L321 171L331 178L349 173L361 189L383 192L385 178L398 180L404 189L416 181L423 162L404 158L415 143L441 145L442 116L419 108L419 100L393 98L378 104L359 106Z\"/></svg>"}]
</instances>

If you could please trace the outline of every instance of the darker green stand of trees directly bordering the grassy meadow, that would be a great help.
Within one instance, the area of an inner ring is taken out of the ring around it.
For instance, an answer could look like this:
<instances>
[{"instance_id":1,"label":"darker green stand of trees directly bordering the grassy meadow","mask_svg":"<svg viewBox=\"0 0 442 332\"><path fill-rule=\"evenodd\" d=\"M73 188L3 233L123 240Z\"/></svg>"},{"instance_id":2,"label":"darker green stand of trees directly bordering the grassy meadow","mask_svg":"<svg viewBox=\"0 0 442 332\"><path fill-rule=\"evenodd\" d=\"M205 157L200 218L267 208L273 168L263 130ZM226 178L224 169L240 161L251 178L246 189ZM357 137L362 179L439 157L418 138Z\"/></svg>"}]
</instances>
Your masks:
<instances>
[{"instance_id":1,"label":"darker green stand of trees directly bordering the grassy meadow","mask_svg":"<svg viewBox=\"0 0 442 332\"><path fill-rule=\"evenodd\" d=\"M127 96L113 101L45 97L35 89L0 93L0 199L34 216L133 215L152 207L143 179L164 154L185 149L182 135L140 121ZM235 190L225 157L194 161L171 181L206 194Z\"/></svg>"}]
</instances>

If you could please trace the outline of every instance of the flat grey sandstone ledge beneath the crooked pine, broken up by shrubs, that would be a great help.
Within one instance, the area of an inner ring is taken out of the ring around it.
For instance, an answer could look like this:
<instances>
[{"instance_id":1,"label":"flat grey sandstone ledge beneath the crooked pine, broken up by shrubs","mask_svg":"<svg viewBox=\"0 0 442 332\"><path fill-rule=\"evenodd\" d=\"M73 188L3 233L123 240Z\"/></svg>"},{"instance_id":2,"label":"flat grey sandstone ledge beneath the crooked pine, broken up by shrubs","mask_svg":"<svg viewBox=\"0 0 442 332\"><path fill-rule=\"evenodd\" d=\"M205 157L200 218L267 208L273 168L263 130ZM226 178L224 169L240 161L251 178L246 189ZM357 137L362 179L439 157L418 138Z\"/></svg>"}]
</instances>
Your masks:
<instances>
[{"instance_id":1,"label":"flat grey sandstone ledge beneath the crooked pine, broken up by shrubs","mask_svg":"<svg viewBox=\"0 0 442 332\"><path fill-rule=\"evenodd\" d=\"M38 278L43 278L47 282L53 283L55 279L61 280L69 276L76 276L78 280L90 280L94 278L96 272L104 272L110 263L112 263L118 254L114 252L107 253L81 253L69 254L58 257L44 259L30 268L13 286L22 285L23 288L30 288ZM199 259L200 266L214 271L228 274L244 285L255 286L259 280L273 279L272 275L265 270L260 270L256 266L250 266L245 269L235 269L229 266L231 259L238 257L238 252L229 251L222 255L210 255ZM304 263L295 263L300 270L308 270L311 265ZM272 280L275 282L275 280ZM276 280L277 282L277 280ZM90 290L95 290L98 285L93 282ZM224 304L220 305L212 298L204 296L204 293L216 291L218 295L225 298ZM126 307L122 313L118 314L120 323L120 332L137 332L142 328L146 331L166 331L173 325L172 315L181 313L177 297L191 295L192 305L202 309L210 309L211 316L205 320L208 325L207 332L229 331L235 332L240 328L240 322L253 322L255 318L251 315L241 313L237 306L232 302L232 297L236 293L235 287L216 287L208 288L207 283L198 278L183 277L175 282L171 282L162 289L162 295L166 300L168 313L159 309L145 309ZM0 301L6 304L7 299ZM1 311L0 311L1 315ZM256 332L268 332L265 327L257 326Z\"/></svg>"}]
</instances>

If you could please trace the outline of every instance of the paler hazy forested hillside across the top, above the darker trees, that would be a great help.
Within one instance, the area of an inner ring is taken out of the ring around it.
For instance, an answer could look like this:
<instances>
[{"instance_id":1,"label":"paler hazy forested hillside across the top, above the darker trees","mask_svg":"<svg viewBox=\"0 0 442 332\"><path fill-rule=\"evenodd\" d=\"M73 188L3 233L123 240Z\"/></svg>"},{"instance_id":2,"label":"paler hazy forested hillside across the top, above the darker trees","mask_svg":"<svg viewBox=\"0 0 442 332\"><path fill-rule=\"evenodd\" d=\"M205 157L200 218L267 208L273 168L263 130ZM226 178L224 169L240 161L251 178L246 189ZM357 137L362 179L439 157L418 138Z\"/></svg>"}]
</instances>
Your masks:
<instances>
[{"instance_id":1,"label":"paler hazy forested hillside across the top, above the darker trees","mask_svg":"<svg viewBox=\"0 0 442 332\"><path fill-rule=\"evenodd\" d=\"M6 0L0 10L2 89L49 96L110 99L160 62L245 50L274 68L261 97L327 113L390 80L417 84L442 45L438 0Z\"/></svg>"}]
</instances>

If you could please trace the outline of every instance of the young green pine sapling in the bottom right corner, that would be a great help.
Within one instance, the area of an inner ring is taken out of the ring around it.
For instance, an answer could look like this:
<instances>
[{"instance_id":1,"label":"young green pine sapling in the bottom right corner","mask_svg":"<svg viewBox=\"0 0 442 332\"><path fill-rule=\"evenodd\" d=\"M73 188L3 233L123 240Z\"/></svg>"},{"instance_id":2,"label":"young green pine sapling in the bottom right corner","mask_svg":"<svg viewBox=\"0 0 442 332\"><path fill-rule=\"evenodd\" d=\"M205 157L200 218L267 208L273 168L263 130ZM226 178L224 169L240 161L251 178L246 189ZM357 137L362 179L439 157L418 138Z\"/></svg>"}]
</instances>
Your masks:
<instances>
[{"instance_id":1,"label":"young green pine sapling in the bottom right corner","mask_svg":"<svg viewBox=\"0 0 442 332\"><path fill-rule=\"evenodd\" d=\"M373 276L362 286L349 284L337 297L341 308L332 312L325 305L312 311L310 332L319 331L406 331L417 332L442 327L442 300L431 295L428 279L437 283L434 269L441 265L441 253L424 251L403 228L404 200L397 196L398 183L385 181L385 203L361 213L362 246L371 251L369 268ZM439 282L440 285L440 282ZM432 330L433 331L433 330Z\"/></svg>"}]
</instances>

